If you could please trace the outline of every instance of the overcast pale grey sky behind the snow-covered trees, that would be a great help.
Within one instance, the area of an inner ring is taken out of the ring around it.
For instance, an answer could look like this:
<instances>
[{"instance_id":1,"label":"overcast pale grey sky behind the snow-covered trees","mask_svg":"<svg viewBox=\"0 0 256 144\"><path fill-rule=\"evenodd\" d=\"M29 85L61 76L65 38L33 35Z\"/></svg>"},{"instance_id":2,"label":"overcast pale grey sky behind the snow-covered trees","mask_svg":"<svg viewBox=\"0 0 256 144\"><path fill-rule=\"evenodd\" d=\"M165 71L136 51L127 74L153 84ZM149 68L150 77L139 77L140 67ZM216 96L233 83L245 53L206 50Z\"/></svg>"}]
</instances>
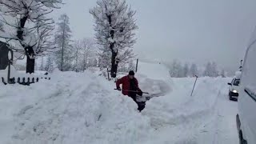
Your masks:
<instances>
[{"instance_id":1,"label":"overcast pale grey sky behind the snow-covered trees","mask_svg":"<svg viewBox=\"0 0 256 144\"><path fill-rule=\"evenodd\" d=\"M74 39L94 37L89 14L96 0L66 0ZM236 70L256 25L255 0L127 0L137 11L138 58L204 64Z\"/></svg>"}]
</instances>

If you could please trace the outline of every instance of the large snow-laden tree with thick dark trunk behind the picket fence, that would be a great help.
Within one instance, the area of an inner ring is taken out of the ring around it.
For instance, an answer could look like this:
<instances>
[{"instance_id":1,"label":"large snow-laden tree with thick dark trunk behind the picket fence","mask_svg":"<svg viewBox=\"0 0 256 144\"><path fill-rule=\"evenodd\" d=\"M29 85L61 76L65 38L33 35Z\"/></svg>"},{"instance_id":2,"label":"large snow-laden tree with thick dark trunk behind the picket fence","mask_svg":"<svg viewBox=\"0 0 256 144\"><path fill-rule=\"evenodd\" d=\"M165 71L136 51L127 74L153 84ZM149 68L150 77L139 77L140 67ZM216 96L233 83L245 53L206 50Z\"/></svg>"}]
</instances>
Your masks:
<instances>
[{"instance_id":1,"label":"large snow-laden tree with thick dark trunk behind the picket fence","mask_svg":"<svg viewBox=\"0 0 256 144\"><path fill-rule=\"evenodd\" d=\"M26 54L26 73L34 73L34 58L51 49L48 42L54 21L46 16L61 3L62 0L0 0L2 23L8 26L0 37L16 43L14 50Z\"/></svg>"}]
</instances>

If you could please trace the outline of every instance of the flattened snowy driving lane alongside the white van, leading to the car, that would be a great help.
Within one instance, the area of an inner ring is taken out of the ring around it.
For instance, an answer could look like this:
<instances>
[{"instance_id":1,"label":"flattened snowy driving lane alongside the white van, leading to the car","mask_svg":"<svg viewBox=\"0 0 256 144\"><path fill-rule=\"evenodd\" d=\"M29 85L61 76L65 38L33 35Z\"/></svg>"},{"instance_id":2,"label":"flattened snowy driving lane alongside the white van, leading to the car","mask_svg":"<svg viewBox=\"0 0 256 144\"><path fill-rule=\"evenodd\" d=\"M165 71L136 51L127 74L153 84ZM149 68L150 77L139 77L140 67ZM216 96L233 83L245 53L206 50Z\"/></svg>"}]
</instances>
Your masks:
<instances>
[{"instance_id":1,"label":"flattened snowy driving lane alongside the white van, leading to the car","mask_svg":"<svg viewBox=\"0 0 256 144\"><path fill-rule=\"evenodd\" d=\"M214 114L198 131L198 143L238 143L235 124L237 102L232 102L228 99L227 90L223 88L219 90L218 99L214 105Z\"/></svg>"}]
</instances>

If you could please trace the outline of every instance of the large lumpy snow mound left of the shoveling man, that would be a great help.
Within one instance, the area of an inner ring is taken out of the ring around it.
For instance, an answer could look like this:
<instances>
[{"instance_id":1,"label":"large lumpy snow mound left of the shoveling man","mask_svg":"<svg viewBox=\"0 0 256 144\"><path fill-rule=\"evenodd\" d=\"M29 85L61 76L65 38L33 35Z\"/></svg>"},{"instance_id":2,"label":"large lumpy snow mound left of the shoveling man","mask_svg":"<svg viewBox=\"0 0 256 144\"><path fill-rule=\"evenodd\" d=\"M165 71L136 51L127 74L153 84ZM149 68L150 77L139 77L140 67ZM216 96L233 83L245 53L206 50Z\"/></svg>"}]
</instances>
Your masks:
<instances>
[{"instance_id":1,"label":"large lumpy snow mound left of the shoveling man","mask_svg":"<svg viewBox=\"0 0 256 144\"><path fill-rule=\"evenodd\" d=\"M51 81L0 90L3 143L140 143L149 118L96 74L55 72Z\"/></svg>"}]
</instances>

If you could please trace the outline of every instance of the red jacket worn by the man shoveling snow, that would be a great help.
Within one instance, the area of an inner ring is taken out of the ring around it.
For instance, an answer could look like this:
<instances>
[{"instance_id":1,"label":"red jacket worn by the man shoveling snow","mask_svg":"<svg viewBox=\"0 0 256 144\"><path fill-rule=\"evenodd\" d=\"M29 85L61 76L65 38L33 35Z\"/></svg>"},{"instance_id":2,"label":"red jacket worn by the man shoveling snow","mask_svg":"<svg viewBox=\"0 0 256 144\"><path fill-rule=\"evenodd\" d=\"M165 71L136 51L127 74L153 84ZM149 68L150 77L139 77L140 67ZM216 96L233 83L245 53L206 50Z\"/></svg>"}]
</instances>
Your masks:
<instances>
[{"instance_id":1,"label":"red jacket worn by the man shoveling snow","mask_svg":"<svg viewBox=\"0 0 256 144\"><path fill-rule=\"evenodd\" d=\"M138 87L138 80L136 78L134 78L134 80L135 80L135 85L136 85L138 91L142 91ZM130 78L129 78L129 76L127 75L127 76L124 76L124 77L118 79L118 81L116 82L117 88L120 87L120 84L122 84L122 94L128 95L127 90L130 90Z\"/></svg>"}]
</instances>

